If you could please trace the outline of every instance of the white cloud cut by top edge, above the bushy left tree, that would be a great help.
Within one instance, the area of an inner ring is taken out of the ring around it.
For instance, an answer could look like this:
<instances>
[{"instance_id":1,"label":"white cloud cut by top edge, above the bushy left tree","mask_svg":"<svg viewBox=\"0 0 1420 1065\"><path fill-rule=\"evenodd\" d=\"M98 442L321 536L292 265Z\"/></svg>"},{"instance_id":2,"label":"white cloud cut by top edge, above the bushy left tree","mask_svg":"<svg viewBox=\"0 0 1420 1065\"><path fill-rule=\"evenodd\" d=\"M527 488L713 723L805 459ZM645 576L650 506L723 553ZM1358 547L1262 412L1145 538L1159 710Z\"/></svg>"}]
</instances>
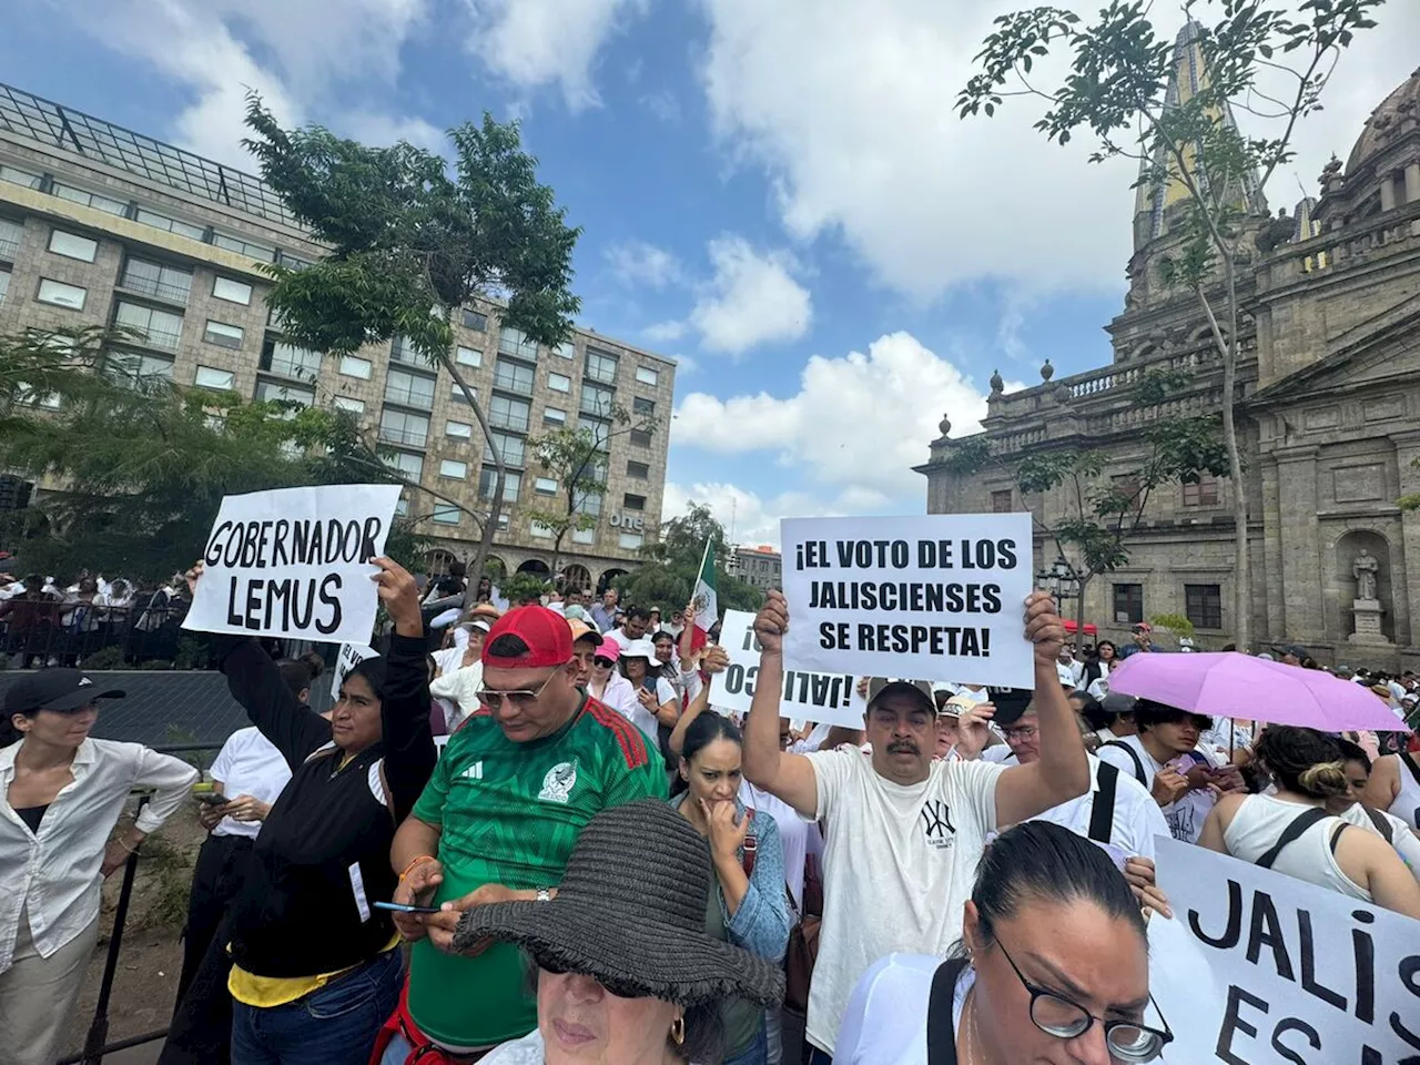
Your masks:
<instances>
[{"instance_id":1,"label":"white cloud cut by top edge, above the bushy left tree","mask_svg":"<svg viewBox=\"0 0 1420 1065\"><path fill-rule=\"evenodd\" d=\"M464 0L469 51L523 89L557 85L571 111L598 106L592 68L608 40L649 0Z\"/></svg>"}]
</instances>

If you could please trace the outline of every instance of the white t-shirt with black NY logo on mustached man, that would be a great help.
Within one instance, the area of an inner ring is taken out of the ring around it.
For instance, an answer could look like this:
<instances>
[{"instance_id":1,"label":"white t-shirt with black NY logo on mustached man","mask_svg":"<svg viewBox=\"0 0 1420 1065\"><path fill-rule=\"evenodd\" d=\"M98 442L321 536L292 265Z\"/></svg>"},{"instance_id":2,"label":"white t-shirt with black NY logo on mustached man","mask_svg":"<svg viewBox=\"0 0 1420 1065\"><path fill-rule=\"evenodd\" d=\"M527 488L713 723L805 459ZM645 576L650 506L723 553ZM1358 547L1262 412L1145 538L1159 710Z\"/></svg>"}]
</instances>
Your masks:
<instances>
[{"instance_id":1,"label":"white t-shirt with black NY logo on mustached man","mask_svg":"<svg viewBox=\"0 0 1420 1065\"><path fill-rule=\"evenodd\" d=\"M1005 768L934 761L920 784L879 777L855 750L804 755L824 819L824 922L808 995L807 1037L832 1054L848 995L893 951L946 954L961 939Z\"/></svg>"}]
</instances>

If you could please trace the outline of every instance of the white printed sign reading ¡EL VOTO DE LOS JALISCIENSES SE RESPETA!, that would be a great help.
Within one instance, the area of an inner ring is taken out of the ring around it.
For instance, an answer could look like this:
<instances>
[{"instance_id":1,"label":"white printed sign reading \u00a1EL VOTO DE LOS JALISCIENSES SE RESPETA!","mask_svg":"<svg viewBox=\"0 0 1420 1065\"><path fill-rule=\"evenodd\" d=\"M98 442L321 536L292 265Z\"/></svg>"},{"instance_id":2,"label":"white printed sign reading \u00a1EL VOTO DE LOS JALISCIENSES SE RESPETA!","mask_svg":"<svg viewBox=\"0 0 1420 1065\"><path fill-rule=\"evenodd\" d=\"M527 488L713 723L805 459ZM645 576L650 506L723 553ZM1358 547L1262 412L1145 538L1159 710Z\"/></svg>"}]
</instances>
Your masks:
<instances>
[{"instance_id":1,"label":"white printed sign reading \u00a1EL VOTO DE LOS JALISCIENSES SE RESPETA!","mask_svg":"<svg viewBox=\"0 0 1420 1065\"><path fill-rule=\"evenodd\" d=\"M788 518L785 665L1032 687L1030 514Z\"/></svg>"}]
</instances>

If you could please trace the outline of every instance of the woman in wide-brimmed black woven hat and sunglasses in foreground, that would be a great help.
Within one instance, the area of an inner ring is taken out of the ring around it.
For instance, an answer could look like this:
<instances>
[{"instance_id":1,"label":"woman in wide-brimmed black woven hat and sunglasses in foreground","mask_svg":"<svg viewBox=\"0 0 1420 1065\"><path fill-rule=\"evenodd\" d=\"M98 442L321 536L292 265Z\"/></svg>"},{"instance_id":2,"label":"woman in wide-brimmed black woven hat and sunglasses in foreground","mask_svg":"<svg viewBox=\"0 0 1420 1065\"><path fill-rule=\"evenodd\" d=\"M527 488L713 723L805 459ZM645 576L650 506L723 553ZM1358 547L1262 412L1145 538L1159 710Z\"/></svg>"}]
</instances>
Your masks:
<instances>
[{"instance_id":1,"label":"woman in wide-brimmed black woven hat and sunglasses in foreground","mask_svg":"<svg viewBox=\"0 0 1420 1065\"><path fill-rule=\"evenodd\" d=\"M454 950L486 937L532 958L537 1030L481 1065L713 1065L720 1003L784 995L771 961L704 932L710 856L660 799L605 809L582 829L551 902L474 906Z\"/></svg>"}]
</instances>

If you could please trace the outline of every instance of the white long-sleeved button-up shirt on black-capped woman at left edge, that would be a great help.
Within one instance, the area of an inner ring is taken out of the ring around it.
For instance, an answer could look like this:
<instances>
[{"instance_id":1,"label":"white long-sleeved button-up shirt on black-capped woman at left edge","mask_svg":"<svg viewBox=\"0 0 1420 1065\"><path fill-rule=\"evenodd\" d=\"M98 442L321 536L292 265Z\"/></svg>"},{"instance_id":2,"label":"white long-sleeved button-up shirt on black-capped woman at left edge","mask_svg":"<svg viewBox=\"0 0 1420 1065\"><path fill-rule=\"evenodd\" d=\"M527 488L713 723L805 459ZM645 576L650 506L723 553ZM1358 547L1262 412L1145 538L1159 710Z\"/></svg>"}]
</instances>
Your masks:
<instances>
[{"instance_id":1,"label":"white long-sleeved button-up shirt on black-capped woman at left edge","mask_svg":"<svg viewBox=\"0 0 1420 1065\"><path fill-rule=\"evenodd\" d=\"M197 781L197 770L169 754L136 743L85 740L74 754L74 780L44 811L36 835L9 798L21 746L0 750L0 973L14 957L21 909L28 907L41 957L98 917L104 848L133 788L158 790L136 821L141 832L155 832Z\"/></svg>"}]
</instances>

